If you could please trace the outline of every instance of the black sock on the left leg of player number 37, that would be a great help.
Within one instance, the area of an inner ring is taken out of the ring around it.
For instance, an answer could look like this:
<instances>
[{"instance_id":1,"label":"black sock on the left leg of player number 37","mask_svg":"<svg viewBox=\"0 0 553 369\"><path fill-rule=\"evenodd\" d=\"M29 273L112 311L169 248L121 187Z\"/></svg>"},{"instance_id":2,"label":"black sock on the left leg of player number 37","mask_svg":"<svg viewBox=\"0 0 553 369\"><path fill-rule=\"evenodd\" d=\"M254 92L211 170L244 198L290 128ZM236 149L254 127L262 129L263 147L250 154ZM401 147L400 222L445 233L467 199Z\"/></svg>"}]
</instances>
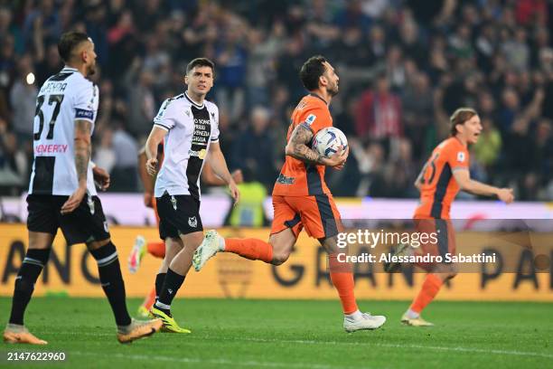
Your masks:
<instances>
[{"instance_id":1,"label":"black sock on the left leg of player number 37","mask_svg":"<svg viewBox=\"0 0 553 369\"><path fill-rule=\"evenodd\" d=\"M10 315L11 324L23 326L23 315L25 314L25 309L29 301L31 301L34 283L41 275L42 268L50 258L50 250L51 249L27 250L21 269L17 273L17 278L15 279L12 314Z\"/></svg>"}]
</instances>

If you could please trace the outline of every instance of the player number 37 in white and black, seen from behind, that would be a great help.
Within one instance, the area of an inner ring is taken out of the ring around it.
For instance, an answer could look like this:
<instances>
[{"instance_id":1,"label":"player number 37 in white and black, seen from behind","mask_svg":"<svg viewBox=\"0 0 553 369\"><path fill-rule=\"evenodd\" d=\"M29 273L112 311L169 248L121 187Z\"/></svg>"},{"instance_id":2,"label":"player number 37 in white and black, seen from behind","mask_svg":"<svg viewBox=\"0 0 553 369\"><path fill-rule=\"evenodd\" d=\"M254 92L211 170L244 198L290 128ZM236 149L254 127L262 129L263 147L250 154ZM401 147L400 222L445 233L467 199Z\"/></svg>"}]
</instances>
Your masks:
<instances>
[{"instance_id":1,"label":"player number 37 in white and black, seen from behind","mask_svg":"<svg viewBox=\"0 0 553 369\"><path fill-rule=\"evenodd\" d=\"M15 279L4 341L47 344L27 330L23 315L61 228L68 244L86 243L97 261L100 283L116 319L117 340L128 343L154 334L162 322L140 322L128 315L117 250L94 186L94 180L102 189L109 185L107 173L93 169L90 162L90 136L98 110L98 87L87 80L96 67L94 43L85 33L64 33L58 51L65 67L44 82L36 99L27 197L29 248Z\"/></svg>"}]
</instances>

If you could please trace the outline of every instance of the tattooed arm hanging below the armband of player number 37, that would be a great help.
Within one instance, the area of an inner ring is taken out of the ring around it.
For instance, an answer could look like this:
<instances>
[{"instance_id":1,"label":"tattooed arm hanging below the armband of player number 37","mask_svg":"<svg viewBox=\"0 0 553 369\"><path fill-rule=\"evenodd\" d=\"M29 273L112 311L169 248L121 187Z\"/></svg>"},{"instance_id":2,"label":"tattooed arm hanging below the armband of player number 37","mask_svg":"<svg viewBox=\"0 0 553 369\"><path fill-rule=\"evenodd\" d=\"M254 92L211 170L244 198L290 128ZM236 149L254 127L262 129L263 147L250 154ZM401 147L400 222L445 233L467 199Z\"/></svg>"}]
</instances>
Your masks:
<instances>
[{"instance_id":1,"label":"tattooed arm hanging below the armband of player number 37","mask_svg":"<svg viewBox=\"0 0 553 369\"><path fill-rule=\"evenodd\" d=\"M88 120L75 120L75 169L79 186L70 198L61 206L61 213L71 213L77 209L82 198L87 193L87 175L90 161L90 129L92 123Z\"/></svg>"}]
</instances>

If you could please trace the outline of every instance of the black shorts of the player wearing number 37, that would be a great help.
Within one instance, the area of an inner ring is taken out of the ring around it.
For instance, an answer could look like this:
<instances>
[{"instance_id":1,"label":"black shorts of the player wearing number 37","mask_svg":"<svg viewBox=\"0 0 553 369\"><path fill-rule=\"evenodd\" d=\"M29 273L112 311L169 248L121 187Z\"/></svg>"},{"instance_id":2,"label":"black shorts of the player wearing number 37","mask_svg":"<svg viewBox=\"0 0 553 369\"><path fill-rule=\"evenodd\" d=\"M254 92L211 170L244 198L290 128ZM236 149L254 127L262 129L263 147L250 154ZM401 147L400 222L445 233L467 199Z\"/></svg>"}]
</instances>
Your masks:
<instances>
[{"instance_id":1,"label":"black shorts of the player wearing number 37","mask_svg":"<svg viewBox=\"0 0 553 369\"><path fill-rule=\"evenodd\" d=\"M27 229L31 232L56 234L61 228L68 244L104 241L110 238L108 222L98 196L85 195L79 207L62 215L61 206L69 196L29 194L27 196Z\"/></svg>"}]
</instances>

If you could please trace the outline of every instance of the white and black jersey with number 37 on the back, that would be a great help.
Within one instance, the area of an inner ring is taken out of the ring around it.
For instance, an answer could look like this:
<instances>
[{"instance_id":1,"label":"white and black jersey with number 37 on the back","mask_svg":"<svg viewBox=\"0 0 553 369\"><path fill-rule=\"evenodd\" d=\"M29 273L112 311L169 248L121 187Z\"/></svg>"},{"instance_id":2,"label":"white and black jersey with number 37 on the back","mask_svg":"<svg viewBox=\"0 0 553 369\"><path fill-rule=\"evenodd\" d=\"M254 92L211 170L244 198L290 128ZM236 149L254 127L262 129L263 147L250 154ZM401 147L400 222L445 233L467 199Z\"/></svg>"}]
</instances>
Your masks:
<instances>
[{"instance_id":1,"label":"white and black jersey with number 37 on the back","mask_svg":"<svg viewBox=\"0 0 553 369\"><path fill-rule=\"evenodd\" d=\"M77 190L75 120L91 122L91 135L98 99L98 86L74 68L65 67L44 82L36 99L29 194L70 195ZM89 194L96 195L91 165L87 179Z\"/></svg>"}]
</instances>

